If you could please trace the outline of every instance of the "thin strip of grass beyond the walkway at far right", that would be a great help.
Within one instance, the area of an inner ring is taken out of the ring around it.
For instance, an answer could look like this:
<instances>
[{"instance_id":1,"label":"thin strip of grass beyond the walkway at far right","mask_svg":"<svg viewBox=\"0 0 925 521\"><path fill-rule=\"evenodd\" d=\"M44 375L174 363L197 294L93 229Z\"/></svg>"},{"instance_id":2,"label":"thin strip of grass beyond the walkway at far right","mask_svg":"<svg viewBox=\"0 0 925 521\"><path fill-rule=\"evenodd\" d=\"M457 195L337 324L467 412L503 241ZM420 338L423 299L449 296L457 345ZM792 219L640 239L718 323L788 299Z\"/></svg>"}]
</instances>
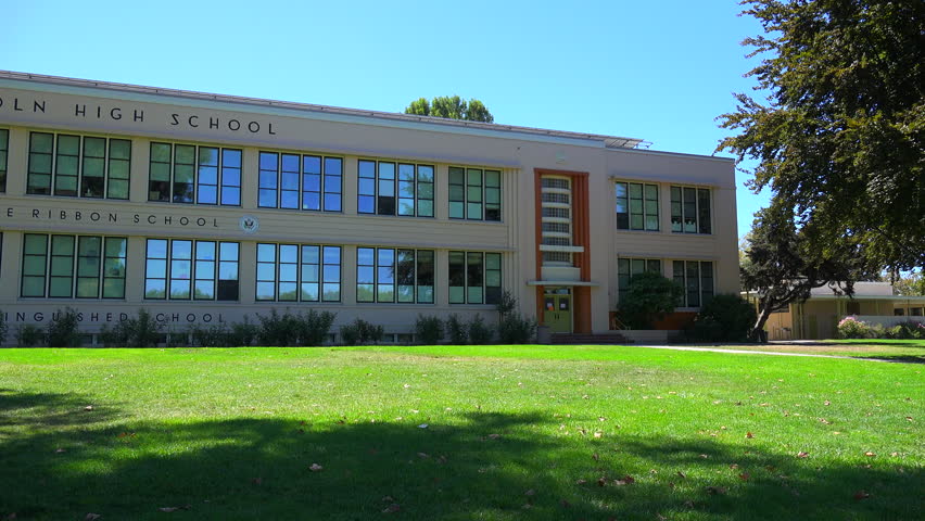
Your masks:
<instances>
[{"instance_id":1,"label":"thin strip of grass beyond the walkway at far right","mask_svg":"<svg viewBox=\"0 0 925 521\"><path fill-rule=\"evenodd\" d=\"M925 364L925 340L820 340L807 343L719 344L697 345L718 350L768 351L773 353L802 353L808 355L850 356L891 361Z\"/></svg>"}]
</instances>

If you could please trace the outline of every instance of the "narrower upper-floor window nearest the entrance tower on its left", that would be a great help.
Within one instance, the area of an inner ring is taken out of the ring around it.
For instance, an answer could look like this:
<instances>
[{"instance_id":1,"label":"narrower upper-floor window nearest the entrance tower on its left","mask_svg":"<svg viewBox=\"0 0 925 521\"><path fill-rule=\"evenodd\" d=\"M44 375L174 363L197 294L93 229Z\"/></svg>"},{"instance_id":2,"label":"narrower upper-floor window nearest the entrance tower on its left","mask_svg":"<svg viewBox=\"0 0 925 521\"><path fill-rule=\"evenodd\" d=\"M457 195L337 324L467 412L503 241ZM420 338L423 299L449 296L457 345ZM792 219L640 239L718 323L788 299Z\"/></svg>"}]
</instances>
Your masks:
<instances>
[{"instance_id":1,"label":"narrower upper-floor window nearest the entrance tower on its left","mask_svg":"<svg viewBox=\"0 0 925 521\"><path fill-rule=\"evenodd\" d=\"M451 166L449 218L500 220L500 171Z\"/></svg>"}]
</instances>

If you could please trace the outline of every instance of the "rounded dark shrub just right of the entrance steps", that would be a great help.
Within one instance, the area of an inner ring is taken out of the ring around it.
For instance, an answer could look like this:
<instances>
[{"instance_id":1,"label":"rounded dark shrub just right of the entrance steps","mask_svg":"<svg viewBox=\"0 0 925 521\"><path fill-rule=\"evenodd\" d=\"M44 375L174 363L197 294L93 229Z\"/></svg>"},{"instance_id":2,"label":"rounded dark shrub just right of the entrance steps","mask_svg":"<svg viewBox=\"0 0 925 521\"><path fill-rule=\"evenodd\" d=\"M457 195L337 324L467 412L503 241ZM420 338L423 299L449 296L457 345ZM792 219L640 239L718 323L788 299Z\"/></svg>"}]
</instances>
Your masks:
<instances>
[{"instance_id":1,"label":"rounded dark shrub just right of the entrance steps","mask_svg":"<svg viewBox=\"0 0 925 521\"><path fill-rule=\"evenodd\" d=\"M620 301L620 317L633 329L651 329L677 307L683 294L681 284L658 274L634 275Z\"/></svg>"}]
</instances>

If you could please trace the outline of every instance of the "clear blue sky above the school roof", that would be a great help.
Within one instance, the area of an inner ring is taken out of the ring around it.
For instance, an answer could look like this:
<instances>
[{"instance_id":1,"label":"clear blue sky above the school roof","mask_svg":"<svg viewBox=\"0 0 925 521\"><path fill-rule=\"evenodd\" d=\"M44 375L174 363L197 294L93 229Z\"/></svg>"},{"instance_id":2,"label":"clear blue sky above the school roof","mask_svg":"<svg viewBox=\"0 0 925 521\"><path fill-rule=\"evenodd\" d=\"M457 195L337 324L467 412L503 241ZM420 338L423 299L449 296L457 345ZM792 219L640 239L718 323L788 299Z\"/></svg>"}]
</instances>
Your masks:
<instances>
[{"instance_id":1,"label":"clear blue sky above the school roof","mask_svg":"<svg viewBox=\"0 0 925 521\"><path fill-rule=\"evenodd\" d=\"M497 123L708 155L724 136L714 118L755 85L739 42L761 30L734 0L14 0L3 11L4 69L391 112L459 94ZM768 193L736 178L743 236Z\"/></svg>"}]
</instances>

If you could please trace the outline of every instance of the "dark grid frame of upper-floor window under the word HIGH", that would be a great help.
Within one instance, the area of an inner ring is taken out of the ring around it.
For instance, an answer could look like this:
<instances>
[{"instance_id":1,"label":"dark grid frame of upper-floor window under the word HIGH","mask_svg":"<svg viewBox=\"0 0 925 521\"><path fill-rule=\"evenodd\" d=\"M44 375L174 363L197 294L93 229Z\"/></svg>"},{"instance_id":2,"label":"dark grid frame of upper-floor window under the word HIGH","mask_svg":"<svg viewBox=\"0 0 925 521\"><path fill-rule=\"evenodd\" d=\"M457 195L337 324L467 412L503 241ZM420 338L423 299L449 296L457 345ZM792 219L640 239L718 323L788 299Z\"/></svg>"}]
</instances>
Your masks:
<instances>
[{"instance_id":1,"label":"dark grid frame of upper-floor window under the word HIGH","mask_svg":"<svg viewBox=\"0 0 925 521\"><path fill-rule=\"evenodd\" d=\"M9 139L9 129L0 129L7 130L8 139ZM36 141L37 136L48 136L51 140L51 149L49 152L36 152L34 151L34 142ZM61 152L61 138L76 138L77 139L77 149L76 153L62 153ZM87 140L102 140L103 141L103 155L102 156L88 156L87 155ZM113 156L113 142L127 143L128 145L128 157L114 157ZM94 134L69 134L69 132L55 132L55 131L45 131L45 130L29 130L29 140L28 140L28 161L26 164L26 195L48 195L53 198L75 198L75 199L99 199L99 200L112 200L112 201L128 201L129 198L129 185L131 182L131 148L132 140L130 138L124 137L113 137L113 136L101 136ZM9 144L7 144L7 150L3 151L4 156L9 155ZM37 156L46 156L48 162L48 171L38 171L34 168L37 168ZM62 160L64 157L69 157L73 162L74 174L63 174L61 173L62 168ZM103 169L103 186L100 190L100 195L84 195L84 188L87 186L87 178L96 178L99 176L87 176L86 169L88 165L88 160L98 160L102 165ZM113 177L113 165L115 162L126 162L126 173L127 177L125 178L115 178ZM3 173L5 174L5 169ZM38 187L37 189L30 185L30 181L36 176L48 176L48 185ZM65 191L71 191L71 189L65 189L63 187L59 187L59 182L63 178L73 178L74 179L74 193L63 193ZM113 181L125 181L125 196L116 196L112 195L112 186ZM3 176L3 187L0 189L0 193L5 192L5 176ZM41 190L41 191L39 191ZM43 191L47 190L47 191Z\"/></svg>"}]
</instances>

